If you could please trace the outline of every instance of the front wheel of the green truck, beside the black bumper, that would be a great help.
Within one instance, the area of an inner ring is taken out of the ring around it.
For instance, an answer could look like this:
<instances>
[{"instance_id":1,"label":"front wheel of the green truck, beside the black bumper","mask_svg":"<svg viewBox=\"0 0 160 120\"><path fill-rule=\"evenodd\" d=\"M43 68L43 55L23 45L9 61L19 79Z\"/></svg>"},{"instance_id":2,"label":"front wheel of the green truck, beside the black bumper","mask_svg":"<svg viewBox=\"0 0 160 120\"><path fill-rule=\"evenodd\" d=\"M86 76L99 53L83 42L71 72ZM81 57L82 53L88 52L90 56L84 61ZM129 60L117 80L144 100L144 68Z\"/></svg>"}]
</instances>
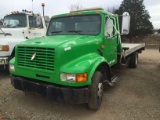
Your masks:
<instances>
[{"instance_id":1,"label":"front wheel of the green truck, beside the black bumper","mask_svg":"<svg viewBox=\"0 0 160 120\"><path fill-rule=\"evenodd\" d=\"M91 110L98 110L103 97L103 75L96 71L92 77L92 85L89 86L90 96L88 107Z\"/></svg>"}]
</instances>

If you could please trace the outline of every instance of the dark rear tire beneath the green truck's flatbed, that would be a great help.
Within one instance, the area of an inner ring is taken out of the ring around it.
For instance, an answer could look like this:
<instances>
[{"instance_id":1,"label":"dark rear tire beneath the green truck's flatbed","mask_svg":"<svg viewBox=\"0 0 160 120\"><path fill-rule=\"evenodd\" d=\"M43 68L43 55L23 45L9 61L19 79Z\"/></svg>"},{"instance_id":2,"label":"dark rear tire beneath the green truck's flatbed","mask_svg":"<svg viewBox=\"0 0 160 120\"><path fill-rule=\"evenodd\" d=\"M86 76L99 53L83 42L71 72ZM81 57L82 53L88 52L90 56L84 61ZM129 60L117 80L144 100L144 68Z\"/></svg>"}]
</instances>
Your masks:
<instances>
[{"instance_id":1,"label":"dark rear tire beneath the green truck's flatbed","mask_svg":"<svg viewBox=\"0 0 160 120\"><path fill-rule=\"evenodd\" d=\"M137 52L134 52L134 53L131 55L129 67L130 67L130 68L136 68L137 65L138 65L138 53L137 53Z\"/></svg>"}]
</instances>

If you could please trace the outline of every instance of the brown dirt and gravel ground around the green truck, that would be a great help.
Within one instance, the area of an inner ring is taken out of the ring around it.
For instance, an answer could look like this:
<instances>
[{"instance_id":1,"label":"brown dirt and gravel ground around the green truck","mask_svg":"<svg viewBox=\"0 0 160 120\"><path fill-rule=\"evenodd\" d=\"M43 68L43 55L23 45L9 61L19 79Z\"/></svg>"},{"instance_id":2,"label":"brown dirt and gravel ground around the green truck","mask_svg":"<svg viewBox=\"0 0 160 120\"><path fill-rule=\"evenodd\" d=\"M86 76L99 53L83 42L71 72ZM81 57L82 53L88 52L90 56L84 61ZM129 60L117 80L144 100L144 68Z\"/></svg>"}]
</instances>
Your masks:
<instances>
[{"instance_id":1,"label":"brown dirt and gravel ground around the green truck","mask_svg":"<svg viewBox=\"0 0 160 120\"><path fill-rule=\"evenodd\" d=\"M11 86L0 71L0 120L159 120L160 53L146 49L136 69L116 69L119 82L104 93L100 110L51 101Z\"/></svg>"}]
</instances>

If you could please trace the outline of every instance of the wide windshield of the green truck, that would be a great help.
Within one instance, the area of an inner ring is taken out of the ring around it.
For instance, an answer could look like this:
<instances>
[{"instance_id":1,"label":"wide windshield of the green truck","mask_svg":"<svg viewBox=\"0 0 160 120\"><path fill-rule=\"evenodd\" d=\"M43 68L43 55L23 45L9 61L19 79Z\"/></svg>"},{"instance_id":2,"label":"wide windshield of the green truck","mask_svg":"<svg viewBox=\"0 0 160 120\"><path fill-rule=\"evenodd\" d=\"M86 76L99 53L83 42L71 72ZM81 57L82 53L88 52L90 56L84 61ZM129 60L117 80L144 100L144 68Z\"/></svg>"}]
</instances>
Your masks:
<instances>
[{"instance_id":1,"label":"wide windshield of the green truck","mask_svg":"<svg viewBox=\"0 0 160 120\"><path fill-rule=\"evenodd\" d=\"M97 35L100 33L100 15L69 16L52 19L47 35Z\"/></svg>"}]
</instances>

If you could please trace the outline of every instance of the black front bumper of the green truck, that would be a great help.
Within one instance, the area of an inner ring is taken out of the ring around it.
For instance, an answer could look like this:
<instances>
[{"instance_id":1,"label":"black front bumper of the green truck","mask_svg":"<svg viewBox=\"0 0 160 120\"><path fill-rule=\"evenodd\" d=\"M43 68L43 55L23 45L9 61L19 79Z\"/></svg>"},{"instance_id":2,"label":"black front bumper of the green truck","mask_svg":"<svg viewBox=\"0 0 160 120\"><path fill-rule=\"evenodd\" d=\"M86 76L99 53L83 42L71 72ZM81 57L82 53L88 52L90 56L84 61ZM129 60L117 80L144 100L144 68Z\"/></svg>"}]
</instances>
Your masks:
<instances>
[{"instance_id":1,"label":"black front bumper of the green truck","mask_svg":"<svg viewBox=\"0 0 160 120\"><path fill-rule=\"evenodd\" d=\"M64 87L55 84L31 80L28 78L16 77L10 75L11 83L14 88L24 92L33 92L46 98L69 103L82 104L87 103L89 98L88 87L73 88Z\"/></svg>"}]
</instances>

